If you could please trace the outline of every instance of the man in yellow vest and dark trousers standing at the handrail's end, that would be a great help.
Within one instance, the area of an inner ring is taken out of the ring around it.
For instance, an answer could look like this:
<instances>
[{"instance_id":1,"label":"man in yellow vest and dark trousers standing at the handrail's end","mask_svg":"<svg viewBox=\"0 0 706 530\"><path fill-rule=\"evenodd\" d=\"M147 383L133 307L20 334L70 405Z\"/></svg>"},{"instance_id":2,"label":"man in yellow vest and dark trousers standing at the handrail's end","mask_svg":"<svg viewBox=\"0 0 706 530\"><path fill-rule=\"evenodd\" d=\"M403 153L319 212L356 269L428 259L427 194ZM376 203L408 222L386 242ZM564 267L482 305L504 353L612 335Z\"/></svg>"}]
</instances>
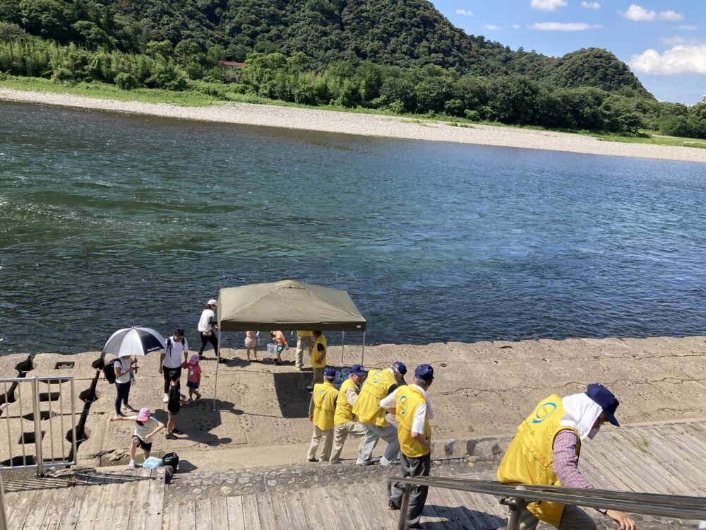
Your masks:
<instances>
[{"instance_id":1,"label":"man in yellow vest and dark trousers standing at the handrail's end","mask_svg":"<svg viewBox=\"0 0 706 530\"><path fill-rule=\"evenodd\" d=\"M402 478L429 476L431 471L431 425L434 417L431 401L426 392L434 380L431 365L419 365L414 370L414 384L397 387L393 394L380 401L380 406L397 419L397 437L400 440L400 467ZM400 510L405 488L394 483L390 489L388 509ZM421 528L421 512L424 512L428 486L415 485L409 494L405 529Z\"/></svg>"}]
</instances>

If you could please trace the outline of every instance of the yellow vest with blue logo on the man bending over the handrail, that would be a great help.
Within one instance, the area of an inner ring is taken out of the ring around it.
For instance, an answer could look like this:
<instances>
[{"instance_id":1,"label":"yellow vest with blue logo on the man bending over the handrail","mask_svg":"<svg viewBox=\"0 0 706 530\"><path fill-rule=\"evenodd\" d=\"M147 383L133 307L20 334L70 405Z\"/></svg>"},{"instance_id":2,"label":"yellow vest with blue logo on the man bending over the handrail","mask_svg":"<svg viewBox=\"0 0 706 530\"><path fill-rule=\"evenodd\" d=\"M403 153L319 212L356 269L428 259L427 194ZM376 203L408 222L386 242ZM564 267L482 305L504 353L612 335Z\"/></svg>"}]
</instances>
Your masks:
<instances>
[{"instance_id":1,"label":"yellow vest with blue logo on the man bending over the handrail","mask_svg":"<svg viewBox=\"0 0 706 530\"><path fill-rule=\"evenodd\" d=\"M498 481L561 486L552 466L554 437L563 429L573 430L578 436L575 428L561 426L559 421L563 416L564 407L556 394L540 401L532 414L517 428L517 434L498 467ZM580 451L579 441L576 445L577 456ZM532 502L527 505L527 510L542 521L559 526L564 505L558 502Z\"/></svg>"}]
</instances>

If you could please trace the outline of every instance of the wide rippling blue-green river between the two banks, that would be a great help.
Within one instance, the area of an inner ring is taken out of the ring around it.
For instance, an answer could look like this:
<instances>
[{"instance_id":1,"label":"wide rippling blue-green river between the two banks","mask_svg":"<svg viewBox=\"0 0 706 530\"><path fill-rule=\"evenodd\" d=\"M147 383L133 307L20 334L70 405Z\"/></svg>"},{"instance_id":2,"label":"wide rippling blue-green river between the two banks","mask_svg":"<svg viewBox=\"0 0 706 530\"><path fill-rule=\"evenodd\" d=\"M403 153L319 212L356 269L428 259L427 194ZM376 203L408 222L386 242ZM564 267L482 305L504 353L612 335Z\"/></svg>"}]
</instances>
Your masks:
<instances>
[{"instance_id":1,"label":"wide rippling blue-green river between the two banks","mask_svg":"<svg viewBox=\"0 0 706 530\"><path fill-rule=\"evenodd\" d=\"M193 344L219 288L285 278L369 343L705 334L704 175L0 103L0 353Z\"/></svg>"}]
</instances>

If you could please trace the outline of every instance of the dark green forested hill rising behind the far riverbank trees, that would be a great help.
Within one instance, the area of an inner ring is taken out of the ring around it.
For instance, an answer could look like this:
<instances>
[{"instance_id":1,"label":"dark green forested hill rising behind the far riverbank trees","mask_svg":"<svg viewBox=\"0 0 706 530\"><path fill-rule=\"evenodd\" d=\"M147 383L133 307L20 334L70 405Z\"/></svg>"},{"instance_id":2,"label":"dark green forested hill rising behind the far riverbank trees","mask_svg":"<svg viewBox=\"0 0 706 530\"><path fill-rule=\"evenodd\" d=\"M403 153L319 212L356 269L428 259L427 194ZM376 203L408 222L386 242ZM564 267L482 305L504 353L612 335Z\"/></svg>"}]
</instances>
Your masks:
<instances>
[{"instance_id":1,"label":"dark green forested hill rising behind the far riverbank trees","mask_svg":"<svg viewBox=\"0 0 706 530\"><path fill-rule=\"evenodd\" d=\"M627 87L652 98L610 52L515 52L455 28L426 0L0 0L0 20L62 44L124 52L188 41L235 61L251 52L304 52L321 66L436 64L476 76L521 73L557 87Z\"/></svg>"}]
</instances>

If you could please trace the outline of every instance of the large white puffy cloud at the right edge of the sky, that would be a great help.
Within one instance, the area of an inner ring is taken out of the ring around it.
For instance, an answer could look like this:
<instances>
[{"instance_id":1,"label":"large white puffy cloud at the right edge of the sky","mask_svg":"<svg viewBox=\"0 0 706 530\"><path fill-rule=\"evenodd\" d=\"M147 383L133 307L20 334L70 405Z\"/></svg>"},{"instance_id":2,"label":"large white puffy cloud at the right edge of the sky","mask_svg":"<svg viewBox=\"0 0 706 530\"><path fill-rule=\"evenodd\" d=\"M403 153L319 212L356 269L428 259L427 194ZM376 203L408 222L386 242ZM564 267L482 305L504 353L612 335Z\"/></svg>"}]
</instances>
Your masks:
<instances>
[{"instance_id":1,"label":"large white puffy cloud at the right edge of the sky","mask_svg":"<svg viewBox=\"0 0 706 530\"><path fill-rule=\"evenodd\" d=\"M653 76L678 76L685 73L706 74L706 44L677 45L659 54L647 49L630 57L628 63L635 72Z\"/></svg>"}]
</instances>

